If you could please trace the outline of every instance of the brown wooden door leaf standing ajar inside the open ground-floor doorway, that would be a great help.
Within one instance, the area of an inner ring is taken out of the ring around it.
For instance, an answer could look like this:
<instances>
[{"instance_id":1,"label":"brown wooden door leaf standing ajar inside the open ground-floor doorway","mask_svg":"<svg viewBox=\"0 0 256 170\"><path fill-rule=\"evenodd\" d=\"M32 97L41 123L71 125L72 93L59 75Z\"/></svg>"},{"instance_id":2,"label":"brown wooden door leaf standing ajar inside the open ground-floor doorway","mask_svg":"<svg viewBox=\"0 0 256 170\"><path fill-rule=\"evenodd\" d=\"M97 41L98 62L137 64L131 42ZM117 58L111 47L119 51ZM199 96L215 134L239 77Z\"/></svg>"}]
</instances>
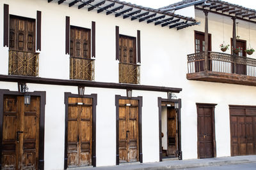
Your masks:
<instances>
[{"instance_id":1,"label":"brown wooden door leaf standing ajar inside the open ground-floor doorway","mask_svg":"<svg viewBox=\"0 0 256 170\"><path fill-rule=\"evenodd\" d=\"M177 156L177 113L174 108L167 107L167 155Z\"/></svg>"}]
</instances>

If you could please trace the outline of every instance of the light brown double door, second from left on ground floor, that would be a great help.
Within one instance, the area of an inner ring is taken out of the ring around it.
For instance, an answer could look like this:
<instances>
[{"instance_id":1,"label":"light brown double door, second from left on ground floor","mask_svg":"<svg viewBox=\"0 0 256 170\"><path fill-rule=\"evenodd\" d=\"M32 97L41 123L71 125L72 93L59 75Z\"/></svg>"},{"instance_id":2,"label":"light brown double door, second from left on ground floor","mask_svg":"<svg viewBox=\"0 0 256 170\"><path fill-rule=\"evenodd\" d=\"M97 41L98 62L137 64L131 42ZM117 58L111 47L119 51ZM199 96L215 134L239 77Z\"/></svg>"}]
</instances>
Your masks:
<instances>
[{"instance_id":1,"label":"light brown double door, second from left on ground floor","mask_svg":"<svg viewBox=\"0 0 256 170\"><path fill-rule=\"evenodd\" d=\"M68 167L92 165L92 98L68 98Z\"/></svg>"}]
</instances>

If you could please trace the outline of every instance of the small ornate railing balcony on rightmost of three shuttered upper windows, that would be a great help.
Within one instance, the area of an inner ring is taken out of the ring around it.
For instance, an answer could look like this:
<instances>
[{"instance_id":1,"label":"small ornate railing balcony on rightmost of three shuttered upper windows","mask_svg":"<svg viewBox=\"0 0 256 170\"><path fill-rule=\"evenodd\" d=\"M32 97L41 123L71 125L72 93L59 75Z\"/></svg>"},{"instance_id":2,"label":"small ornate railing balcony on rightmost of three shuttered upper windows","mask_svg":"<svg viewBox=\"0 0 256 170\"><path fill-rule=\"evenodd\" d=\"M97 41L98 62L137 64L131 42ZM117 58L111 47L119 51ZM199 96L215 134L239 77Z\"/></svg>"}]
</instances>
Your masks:
<instances>
[{"instance_id":1,"label":"small ornate railing balcony on rightmost of three shuttered upper windows","mask_svg":"<svg viewBox=\"0 0 256 170\"><path fill-rule=\"evenodd\" d=\"M140 65L119 63L119 83L140 84Z\"/></svg>"}]
</instances>

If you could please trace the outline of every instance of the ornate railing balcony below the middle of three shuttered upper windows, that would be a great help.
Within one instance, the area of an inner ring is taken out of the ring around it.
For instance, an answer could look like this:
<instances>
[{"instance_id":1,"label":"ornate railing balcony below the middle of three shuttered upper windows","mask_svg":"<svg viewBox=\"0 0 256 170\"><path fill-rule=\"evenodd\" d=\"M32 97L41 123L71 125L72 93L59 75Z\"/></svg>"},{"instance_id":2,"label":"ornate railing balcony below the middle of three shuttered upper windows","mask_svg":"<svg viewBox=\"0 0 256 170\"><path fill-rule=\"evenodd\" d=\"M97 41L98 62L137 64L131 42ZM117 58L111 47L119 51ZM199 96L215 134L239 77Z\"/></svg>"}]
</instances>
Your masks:
<instances>
[{"instance_id":1,"label":"ornate railing balcony below the middle of three shuttered upper windows","mask_svg":"<svg viewBox=\"0 0 256 170\"><path fill-rule=\"evenodd\" d=\"M94 59L70 57L70 79L94 80Z\"/></svg>"}]
</instances>

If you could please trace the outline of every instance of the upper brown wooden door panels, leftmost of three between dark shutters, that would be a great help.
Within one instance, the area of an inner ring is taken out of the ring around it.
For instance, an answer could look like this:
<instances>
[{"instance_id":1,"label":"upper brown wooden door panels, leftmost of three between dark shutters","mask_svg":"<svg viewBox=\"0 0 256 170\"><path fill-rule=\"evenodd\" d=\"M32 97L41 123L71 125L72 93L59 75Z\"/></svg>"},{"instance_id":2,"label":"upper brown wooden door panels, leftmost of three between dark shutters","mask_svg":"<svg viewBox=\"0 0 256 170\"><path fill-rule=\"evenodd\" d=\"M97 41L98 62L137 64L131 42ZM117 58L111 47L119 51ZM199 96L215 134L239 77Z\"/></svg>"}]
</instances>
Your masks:
<instances>
[{"instance_id":1,"label":"upper brown wooden door panels, leftmost of three between dark shutters","mask_svg":"<svg viewBox=\"0 0 256 170\"><path fill-rule=\"evenodd\" d=\"M10 50L35 52L35 20L10 15Z\"/></svg>"}]
</instances>

